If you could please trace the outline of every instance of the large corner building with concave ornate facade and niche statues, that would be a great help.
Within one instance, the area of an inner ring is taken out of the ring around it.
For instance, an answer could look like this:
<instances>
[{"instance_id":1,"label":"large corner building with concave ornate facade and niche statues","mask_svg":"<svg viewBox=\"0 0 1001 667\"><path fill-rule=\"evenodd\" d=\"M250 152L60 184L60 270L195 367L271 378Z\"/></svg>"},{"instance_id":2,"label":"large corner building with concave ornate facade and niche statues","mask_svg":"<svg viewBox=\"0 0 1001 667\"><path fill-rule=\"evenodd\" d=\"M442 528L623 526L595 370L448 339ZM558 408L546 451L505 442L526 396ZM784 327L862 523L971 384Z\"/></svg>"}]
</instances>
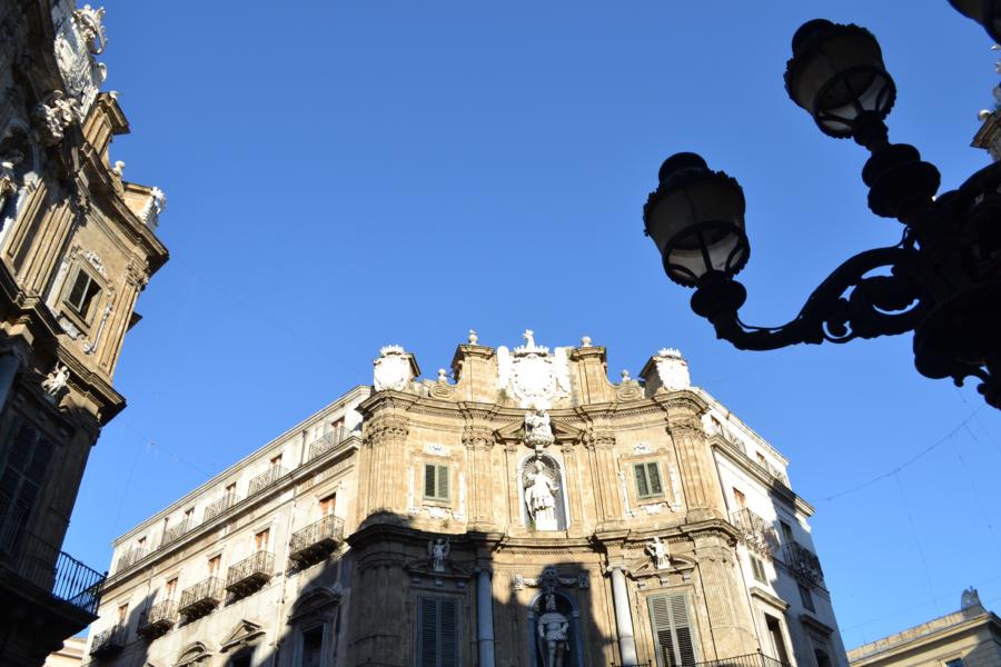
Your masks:
<instances>
[{"instance_id":1,"label":"large corner building with concave ornate facade and niche statues","mask_svg":"<svg viewBox=\"0 0 1001 667\"><path fill-rule=\"evenodd\" d=\"M786 459L675 350L351 389L115 541L92 665L844 667Z\"/></svg>"}]
</instances>

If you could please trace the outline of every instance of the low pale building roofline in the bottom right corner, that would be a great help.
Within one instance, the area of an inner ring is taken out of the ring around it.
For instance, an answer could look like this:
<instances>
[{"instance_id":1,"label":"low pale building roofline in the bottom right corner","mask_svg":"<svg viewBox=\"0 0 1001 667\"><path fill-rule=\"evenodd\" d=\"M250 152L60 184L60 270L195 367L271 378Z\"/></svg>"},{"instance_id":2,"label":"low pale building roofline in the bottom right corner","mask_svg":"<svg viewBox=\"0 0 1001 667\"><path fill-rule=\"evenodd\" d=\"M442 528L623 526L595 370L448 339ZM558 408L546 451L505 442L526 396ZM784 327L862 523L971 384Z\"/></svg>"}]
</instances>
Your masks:
<instances>
[{"instance_id":1,"label":"low pale building roofline in the bottom right corner","mask_svg":"<svg viewBox=\"0 0 1001 667\"><path fill-rule=\"evenodd\" d=\"M960 610L848 653L852 667L1001 667L1001 619L973 588Z\"/></svg>"}]
</instances>

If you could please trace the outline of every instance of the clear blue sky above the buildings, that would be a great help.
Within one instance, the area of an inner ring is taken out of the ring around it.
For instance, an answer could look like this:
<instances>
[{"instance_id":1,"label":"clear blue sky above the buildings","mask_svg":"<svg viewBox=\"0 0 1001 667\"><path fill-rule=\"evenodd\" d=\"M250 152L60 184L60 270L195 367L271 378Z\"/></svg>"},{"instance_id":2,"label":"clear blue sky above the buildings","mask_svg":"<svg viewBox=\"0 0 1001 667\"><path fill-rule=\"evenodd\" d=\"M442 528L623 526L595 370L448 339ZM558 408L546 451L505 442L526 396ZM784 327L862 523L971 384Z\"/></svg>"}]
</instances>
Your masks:
<instances>
[{"instance_id":1,"label":"clear blue sky above the buildings","mask_svg":"<svg viewBox=\"0 0 1001 667\"><path fill-rule=\"evenodd\" d=\"M845 644L959 607L1001 609L1001 414L926 380L910 337L737 352L642 233L662 159L744 187L744 319L777 325L840 261L894 243L862 149L786 97L792 33L871 29L899 87L891 137L955 187L993 54L945 0L796 2L107 0L112 160L163 188L171 261L150 282L66 549L110 541L351 386L379 346L427 376L485 345L582 335L613 377L663 346L792 460ZM975 412L974 417L970 417ZM962 426L960 426L962 425ZM958 428L959 427L959 428ZM825 500L893 470L895 476Z\"/></svg>"}]
</instances>

